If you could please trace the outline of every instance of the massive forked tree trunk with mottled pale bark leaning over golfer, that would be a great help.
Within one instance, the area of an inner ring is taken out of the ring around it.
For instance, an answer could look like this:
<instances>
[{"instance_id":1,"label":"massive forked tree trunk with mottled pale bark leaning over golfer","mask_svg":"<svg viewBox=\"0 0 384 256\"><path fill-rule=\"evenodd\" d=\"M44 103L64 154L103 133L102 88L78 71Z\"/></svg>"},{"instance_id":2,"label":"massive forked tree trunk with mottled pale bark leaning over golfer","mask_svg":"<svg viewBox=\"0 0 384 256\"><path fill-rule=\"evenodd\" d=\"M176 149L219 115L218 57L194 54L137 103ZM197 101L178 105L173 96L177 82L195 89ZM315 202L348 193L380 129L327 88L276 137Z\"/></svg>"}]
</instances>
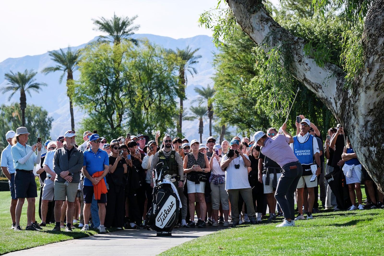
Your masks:
<instances>
[{"instance_id":1,"label":"massive forked tree trunk with mottled pale bark leaning over golfer","mask_svg":"<svg viewBox=\"0 0 384 256\"><path fill-rule=\"evenodd\" d=\"M384 0L373 0L364 32L365 68L355 78L352 91L343 90L345 73L333 64L320 68L305 55L303 39L291 35L268 15L262 1L227 0L237 22L253 41L268 42L269 51L284 43L289 47L295 78L310 89L344 126L358 159L384 191Z\"/></svg>"}]
</instances>

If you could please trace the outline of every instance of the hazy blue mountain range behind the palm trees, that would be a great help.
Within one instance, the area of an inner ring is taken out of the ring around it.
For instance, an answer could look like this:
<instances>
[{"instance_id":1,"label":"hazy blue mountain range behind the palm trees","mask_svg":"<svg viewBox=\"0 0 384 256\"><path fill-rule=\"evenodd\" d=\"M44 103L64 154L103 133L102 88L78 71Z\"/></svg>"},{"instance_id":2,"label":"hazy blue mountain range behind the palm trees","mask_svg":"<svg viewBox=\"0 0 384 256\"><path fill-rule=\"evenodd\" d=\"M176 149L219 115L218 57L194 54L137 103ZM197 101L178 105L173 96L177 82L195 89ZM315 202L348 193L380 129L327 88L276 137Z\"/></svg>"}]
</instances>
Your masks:
<instances>
[{"instance_id":1,"label":"hazy blue mountain range behind the palm trees","mask_svg":"<svg viewBox=\"0 0 384 256\"><path fill-rule=\"evenodd\" d=\"M207 87L208 84L213 86L211 77L213 76L215 70L212 66L213 54L218 52L218 49L214 46L209 36L199 35L191 38L180 38L174 39L166 36L157 36L151 34L134 34L132 38L147 38L152 43L160 45L167 49L176 50L185 49L189 46L192 50L200 48L196 54L201 55L202 58L199 59L199 63L195 65L197 69L197 74L194 74L192 77L190 74L187 74L187 88L186 96L187 100L184 101L184 108L195 105L197 103L193 102L194 99L198 97L197 93L194 91L194 88ZM94 38L93 40L96 40ZM91 41L93 41L91 40ZM86 44L72 47L72 50L77 50L83 48ZM27 94L26 102L27 104L35 104L36 106L41 106L46 109L50 117L53 117L52 129L50 132L51 139L56 139L59 135L63 135L64 132L71 128L70 122L70 111L69 111L69 99L66 96L66 84L64 76L63 82L59 84L59 78L62 73L55 72L44 75L41 73L41 70L48 66L55 66L55 62L51 60L49 53L43 53L41 55L34 56L24 56L21 58L8 58L0 63L0 88L4 87L7 84L5 80L5 73L13 71L16 73L18 71L22 72L25 69L33 69L35 72L38 72L35 76L36 81L39 83L46 83L48 86L43 87L40 93L31 92L31 96ZM76 80L79 76L79 71L74 73L74 79ZM0 98L0 104L10 104L12 102L19 102L20 93L15 93L15 95L8 101L10 92L3 95ZM79 107L74 106L74 121L75 129L78 128L76 123L79 122L84 116L84 112L81 111ZM198 134L199 121L183 121L183 133L189 140L199 139ZM89 130L93 130L93 127L89 127ZM214 133L214 132L213 132ZM152 137L152 136L150 136ZM209 120L204 121L204 134L203 142L209 137ZM45 139L45 138L43 138ZM110 138L107 138L110 139ZM111 138L112 139L112 138ZM226 138L229 139L229 138Z\"/></svg>"}]
</instances>

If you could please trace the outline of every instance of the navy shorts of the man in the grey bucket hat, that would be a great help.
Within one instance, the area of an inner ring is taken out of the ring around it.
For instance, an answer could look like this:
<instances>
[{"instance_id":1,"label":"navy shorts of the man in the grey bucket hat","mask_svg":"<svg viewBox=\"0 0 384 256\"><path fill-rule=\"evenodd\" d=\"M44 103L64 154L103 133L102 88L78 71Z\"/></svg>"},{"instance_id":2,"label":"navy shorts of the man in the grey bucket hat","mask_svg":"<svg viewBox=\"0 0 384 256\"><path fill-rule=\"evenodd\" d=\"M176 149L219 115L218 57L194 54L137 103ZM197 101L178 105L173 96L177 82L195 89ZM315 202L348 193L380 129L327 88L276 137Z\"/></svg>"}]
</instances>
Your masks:
<instances>
[{"instance_id":1,"label":"navy shorts of the man in the grey bucket hat","mask_svg":"<svg viewBox=\"0 0 384 256\"><path fill-rule=\"evenodd\" d=\"M33 173L16 171L15 194L17 198L37 197L37 187Z\"/></svg>"}]
</instances>

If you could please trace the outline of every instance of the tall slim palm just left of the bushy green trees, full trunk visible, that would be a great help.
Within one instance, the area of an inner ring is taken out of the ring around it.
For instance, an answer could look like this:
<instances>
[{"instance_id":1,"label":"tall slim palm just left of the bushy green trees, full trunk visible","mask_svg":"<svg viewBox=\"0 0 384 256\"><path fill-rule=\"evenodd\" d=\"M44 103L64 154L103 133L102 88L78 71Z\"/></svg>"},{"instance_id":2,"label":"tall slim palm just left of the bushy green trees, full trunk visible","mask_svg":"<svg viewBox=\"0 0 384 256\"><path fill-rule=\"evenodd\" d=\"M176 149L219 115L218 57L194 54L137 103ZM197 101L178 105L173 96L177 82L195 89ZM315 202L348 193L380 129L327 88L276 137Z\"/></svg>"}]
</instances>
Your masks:
<instances>
[{"instance_id":1,"label":"tall slim palm just left of the bushy green trees, full trunk visible","mask_svg":"<svg viewBox=\"0 0 384 256\"><path fill-rule=\"evenodd\" d=\"M49 55L51 59L57 64L55 67L47 67L43 69L42 73L48 74L55 71L62 71L63 74L60 76L59 83L63 81L65 73L67 74L67 96L70 98L70 113L71 113L71 129L74 130L74 117L73 117L73 104L72 104L72 93L73 93L73 72L78 69L77 63L80 56L80 50L75 52L71 51L68 47L66 53L60 49L60 51L50 51Z\"/></svg>"}]
</instances>

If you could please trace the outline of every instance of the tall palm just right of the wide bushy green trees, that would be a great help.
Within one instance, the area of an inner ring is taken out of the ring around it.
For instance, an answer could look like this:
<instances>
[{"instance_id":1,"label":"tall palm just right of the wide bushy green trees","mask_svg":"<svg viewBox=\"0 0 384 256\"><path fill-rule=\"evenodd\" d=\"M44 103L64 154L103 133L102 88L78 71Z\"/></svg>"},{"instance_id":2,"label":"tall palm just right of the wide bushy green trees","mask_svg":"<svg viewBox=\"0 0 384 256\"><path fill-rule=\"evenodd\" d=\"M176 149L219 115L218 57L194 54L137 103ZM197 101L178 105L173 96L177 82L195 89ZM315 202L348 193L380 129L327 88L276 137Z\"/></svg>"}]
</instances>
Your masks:
<instances>
[{"instance_id":1,"label":"tall palm just right of the wide bushy green trees","mask_svg":"<svg viewBox=\"0 0 384 256\"><path fill-rule=\"evenodd\" d=\"M200 48L197 48L192 51L192 49L187 46L184 50L176 48L176 55L180 59L179 65L179 98L180 98L180 112L179 112L179 126L177 127L177 133L182 133L182 120L183 120L183 101L185 99L185 87L187 83L186 71L191 74L197 74L197 70L193 67L194 64L199 63L197 59L201 58L201 55L194 54L199 51Z\"/></svg>"}]
</instances>

